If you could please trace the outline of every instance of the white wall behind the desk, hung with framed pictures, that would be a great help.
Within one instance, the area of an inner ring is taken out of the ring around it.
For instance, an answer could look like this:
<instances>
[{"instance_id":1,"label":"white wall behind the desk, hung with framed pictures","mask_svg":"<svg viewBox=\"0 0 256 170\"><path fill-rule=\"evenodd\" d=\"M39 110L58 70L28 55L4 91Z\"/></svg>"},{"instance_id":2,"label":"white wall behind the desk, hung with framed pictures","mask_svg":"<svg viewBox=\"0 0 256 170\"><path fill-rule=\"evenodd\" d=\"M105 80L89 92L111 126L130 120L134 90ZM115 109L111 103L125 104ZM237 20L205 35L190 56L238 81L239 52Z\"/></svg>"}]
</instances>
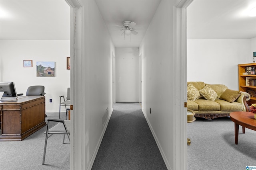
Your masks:
<instances>
[{"instance_id":1,"label":"white wall behind the desk, hung with framed pictures","mask_svg":"<svg viewBox=\"0 0 256 170\"><path fill-rule=\"evenodd\" d=\"M66 89L70 87L70 70L66 69L70 41L0 40L0 48L0 81L13 81L17 93L24 95L28 86L43 85L46 112L58 112L59 96L66 97ZM23 67L23 60L32 60L33 67ZM37 61L55 62L55 77L36 77ZM66 113L63 108L62 111Z\"/></svg>"}]
</instances>

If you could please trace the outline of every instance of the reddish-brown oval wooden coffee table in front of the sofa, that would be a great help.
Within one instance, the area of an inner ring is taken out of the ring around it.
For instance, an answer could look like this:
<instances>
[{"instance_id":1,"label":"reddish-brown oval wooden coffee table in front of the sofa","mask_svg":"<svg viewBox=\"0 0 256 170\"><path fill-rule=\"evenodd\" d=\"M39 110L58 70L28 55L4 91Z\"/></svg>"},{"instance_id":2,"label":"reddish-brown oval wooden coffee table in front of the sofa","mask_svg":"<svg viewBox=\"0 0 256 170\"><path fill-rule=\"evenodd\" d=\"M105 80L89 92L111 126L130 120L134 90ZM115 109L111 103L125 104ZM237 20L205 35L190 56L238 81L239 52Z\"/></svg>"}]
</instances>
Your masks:
<instances>
[{"instance_id":1,"label":"reddish-brown oval wooden coffee table in front of the sofa","mask_svg":"<svg viewBox=\"0 0 256 170\"><path fill-rule=\"evenodd\" d=\"M243 127L243 133L245 128L256 131L256 119L254 119L254 113L248 111L234 111L230 113L230 119L235 123L235 143L238 144L238 130L239 125Z\"/></svg>"}]
</instances>

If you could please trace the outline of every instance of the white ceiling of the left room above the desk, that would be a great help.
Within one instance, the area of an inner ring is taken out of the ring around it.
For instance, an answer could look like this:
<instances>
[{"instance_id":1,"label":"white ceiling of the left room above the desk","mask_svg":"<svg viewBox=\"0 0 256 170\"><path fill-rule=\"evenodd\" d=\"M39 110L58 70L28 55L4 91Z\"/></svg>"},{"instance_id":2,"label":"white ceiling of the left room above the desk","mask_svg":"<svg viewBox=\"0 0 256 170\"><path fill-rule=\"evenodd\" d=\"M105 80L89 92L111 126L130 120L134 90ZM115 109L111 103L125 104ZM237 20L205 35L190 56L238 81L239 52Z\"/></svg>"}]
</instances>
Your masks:
<instances>
[{"instance_id":1,"label":"white ceiling of the left room above the desk","mask_svg":"<svg viewBox=\"0 0 256 170\"><path fill-rule=\"evenodd\" d=\"M0 0L0 39L69 40L65 0Z\"/></svg>"}]
</instances>

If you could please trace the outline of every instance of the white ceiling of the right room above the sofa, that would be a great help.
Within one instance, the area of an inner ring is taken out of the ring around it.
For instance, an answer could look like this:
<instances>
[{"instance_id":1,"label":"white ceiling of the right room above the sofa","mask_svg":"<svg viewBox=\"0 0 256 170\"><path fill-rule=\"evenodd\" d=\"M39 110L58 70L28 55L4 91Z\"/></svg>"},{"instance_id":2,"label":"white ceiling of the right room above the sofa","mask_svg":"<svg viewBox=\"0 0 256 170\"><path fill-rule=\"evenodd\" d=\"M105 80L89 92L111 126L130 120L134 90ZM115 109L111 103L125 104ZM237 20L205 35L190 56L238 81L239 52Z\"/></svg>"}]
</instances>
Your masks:
<instances>
[{"instance_id":1,"label":"white ceiling of the right room above the sofa","mask_svg":"<svg viewBox=\"0 0 256 170\"><path fill-rule=\"evenodd\" d=\"M256 37L256 0L194 0L187 8L188 39Z\"/></svg>"}]
</instances>

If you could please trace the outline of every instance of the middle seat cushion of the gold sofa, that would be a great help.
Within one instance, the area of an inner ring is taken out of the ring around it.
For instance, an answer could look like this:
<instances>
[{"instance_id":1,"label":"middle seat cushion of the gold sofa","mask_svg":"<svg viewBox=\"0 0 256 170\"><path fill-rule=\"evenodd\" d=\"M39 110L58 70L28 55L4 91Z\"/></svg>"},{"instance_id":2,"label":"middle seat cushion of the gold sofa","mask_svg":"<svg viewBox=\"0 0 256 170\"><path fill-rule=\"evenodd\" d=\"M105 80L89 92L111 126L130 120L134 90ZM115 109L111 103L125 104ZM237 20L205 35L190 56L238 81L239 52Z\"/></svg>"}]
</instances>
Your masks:
<instances>
[{"instance_id":1,"label":"middle seat cushion of the gold sofa","mask_svg":"<svg viewBox=\"0 0 256 170\"><path fill-rule=\"evenodd\" d=\"M198 111L220 111L220 104L205 100L205 99L198 99L195 101L198 104Z\"/></svg>"}]
</instances>

